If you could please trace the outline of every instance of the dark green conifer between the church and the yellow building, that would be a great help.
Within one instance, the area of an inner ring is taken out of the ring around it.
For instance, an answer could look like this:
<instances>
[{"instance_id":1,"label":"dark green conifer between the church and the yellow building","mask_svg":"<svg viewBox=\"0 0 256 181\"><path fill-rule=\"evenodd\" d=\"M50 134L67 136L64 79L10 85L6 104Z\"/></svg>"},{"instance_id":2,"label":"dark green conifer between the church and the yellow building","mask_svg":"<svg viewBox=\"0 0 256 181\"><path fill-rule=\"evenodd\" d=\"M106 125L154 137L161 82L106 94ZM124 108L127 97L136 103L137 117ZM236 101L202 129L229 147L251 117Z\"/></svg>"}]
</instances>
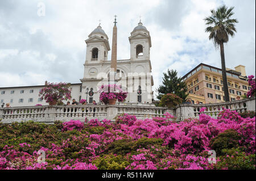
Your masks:
<instances>
[{"instance_id":1,"label":"dark green conifer between the church and the yellow building","mask_svg":"<svg viewBox=\"0 0 256 181\"><path fill-rule=\"evenodd\" d=\"M187 85L185 82L181 81L181 77L177 77L176 70L169 70L167 73L163 73L163 82L161 86L158 88L158 96L157 98L160 100L163 95L172 93L179 96L183 101L187 99Z\"/></svg>"}]
</instances>

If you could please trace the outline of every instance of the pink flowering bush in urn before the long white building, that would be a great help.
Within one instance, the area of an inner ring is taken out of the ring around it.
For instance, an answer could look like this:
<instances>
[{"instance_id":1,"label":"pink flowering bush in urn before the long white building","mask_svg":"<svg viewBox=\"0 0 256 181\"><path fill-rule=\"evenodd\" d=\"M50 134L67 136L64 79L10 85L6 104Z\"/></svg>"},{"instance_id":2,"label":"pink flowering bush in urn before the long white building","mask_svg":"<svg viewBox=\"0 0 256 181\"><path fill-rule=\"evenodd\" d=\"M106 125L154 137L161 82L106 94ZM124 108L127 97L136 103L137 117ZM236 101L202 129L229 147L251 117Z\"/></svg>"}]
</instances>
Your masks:
<instances>
[{"instance_id":1,"label":"pink flowering bush in urn before the long white building","mask_svg":"<svg viewBox=\"0 0 256 181\"><path fill-rule=\"evenodd\" d=\"M46 100L47 103L56 100L56 102L60 102L61 100L71 99L71 90L69 90L70 83L48 83L46 87L44 87L39 92L39 96L41 99Z\"/></svg>"}]
</instances>

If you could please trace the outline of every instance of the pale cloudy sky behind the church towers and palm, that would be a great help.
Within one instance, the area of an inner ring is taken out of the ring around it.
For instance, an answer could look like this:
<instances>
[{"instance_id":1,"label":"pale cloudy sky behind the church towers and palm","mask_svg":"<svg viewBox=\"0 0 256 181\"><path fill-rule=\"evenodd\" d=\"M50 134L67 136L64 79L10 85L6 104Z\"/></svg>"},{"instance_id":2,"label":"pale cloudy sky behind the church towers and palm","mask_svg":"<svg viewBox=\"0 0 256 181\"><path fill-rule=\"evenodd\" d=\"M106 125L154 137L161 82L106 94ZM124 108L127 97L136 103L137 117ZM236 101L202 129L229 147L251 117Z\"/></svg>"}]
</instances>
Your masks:
<instances>
[{"instance_id":1,"label":"pale cloudy sky behind the church towers and palm","mask_svg":"<svg viewBox=\"0 0 256 181\"><path fill-rule=\"evenodd\" d=\"M168 68L180 77L201 62L221 68L220 52L208 40L203 19L222 4L234 6L233 18L239 21L236 36L225 46L226 66L242 64L247 75L255 75L255 0L1 0L0 87L46 80L80 83L84 40L101 19L111 45L115 14L118 59L130 58L128 37L140 15L150 31L154 90Z\"/></svg>"}]
</instances>

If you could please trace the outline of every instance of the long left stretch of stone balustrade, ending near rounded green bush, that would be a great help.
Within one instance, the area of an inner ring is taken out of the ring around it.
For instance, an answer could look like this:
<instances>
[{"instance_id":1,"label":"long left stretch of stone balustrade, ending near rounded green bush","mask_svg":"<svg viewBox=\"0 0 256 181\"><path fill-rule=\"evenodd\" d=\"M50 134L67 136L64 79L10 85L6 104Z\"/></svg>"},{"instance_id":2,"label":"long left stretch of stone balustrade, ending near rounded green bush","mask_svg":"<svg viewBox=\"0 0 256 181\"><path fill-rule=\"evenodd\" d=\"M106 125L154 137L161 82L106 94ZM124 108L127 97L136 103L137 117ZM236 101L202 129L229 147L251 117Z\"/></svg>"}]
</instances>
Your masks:
<instances>
[{"instance_id":1,"label":"long left stretch of stone balustrade, ending near rounded green bush","mask_svg":"<svg viewBox=\"0 0 256 181\"><path fill-rule=\"evenodd\" d=\"M167 108L155 107L152 104L126 105L116 104L113 106L93 105L85 106L33 106L33 107L11 107L0 109L0 120L2 123L12 123L13 121L38 121L43 123L53 123L56 120L69 121L90 119L109 119L114 121L114 117L122 113L129 113L137 116L138 119L163 116ZM173 112L172 110L168 112Z\"/></svg>"}]
</instances>

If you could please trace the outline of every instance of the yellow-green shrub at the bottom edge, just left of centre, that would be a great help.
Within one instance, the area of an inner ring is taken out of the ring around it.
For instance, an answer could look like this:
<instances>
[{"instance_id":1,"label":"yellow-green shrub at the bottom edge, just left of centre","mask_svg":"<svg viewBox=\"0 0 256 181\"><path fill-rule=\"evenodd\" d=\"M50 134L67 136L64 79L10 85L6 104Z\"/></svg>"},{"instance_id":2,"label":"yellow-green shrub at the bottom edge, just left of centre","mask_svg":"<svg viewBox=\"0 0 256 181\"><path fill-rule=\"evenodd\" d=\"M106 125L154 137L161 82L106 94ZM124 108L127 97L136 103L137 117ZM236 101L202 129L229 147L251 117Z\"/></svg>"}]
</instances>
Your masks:
<instances>
[{"instance_id":1,"label":"yellow-green shrub at the bottom edge, just left of centre","mask_svg":"<svg viewBox=\"0 0 256 181\"><path fill-rule=\"evenodd\" d=\"M92 164L100 170L124 170L130 163L122 155L108 154L94 159Z\"/></svg>"}]
</instances>

